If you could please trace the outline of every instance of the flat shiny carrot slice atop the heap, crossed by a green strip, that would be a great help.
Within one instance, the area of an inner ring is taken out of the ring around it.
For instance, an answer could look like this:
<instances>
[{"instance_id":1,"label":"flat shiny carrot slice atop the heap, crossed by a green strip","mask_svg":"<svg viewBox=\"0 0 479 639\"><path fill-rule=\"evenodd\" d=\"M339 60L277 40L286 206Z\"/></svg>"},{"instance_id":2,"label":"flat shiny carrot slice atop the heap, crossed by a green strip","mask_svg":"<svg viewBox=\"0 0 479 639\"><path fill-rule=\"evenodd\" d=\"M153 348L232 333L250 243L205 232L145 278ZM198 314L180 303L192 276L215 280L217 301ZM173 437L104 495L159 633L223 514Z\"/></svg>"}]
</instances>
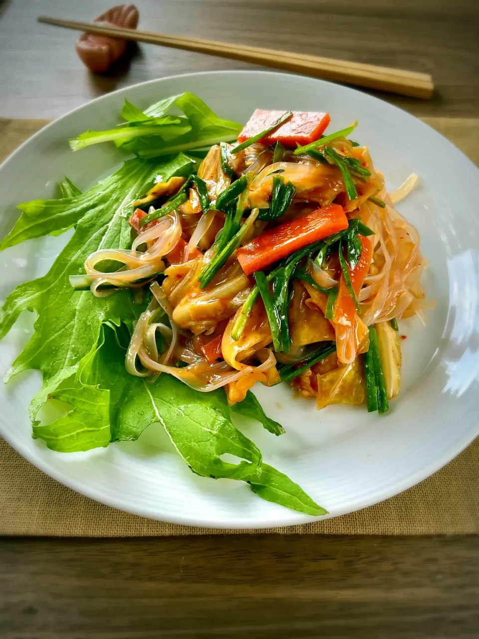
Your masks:
<instances>
[{"instance_id":1,"label":"flat shiny carrot slice atop the heap, crossed by a green strip","mask_svg":"<svg viewBox=\"0 0 479 639\"><path fill-rule=\"evenodd\" d=\"M253 139L260 134L261 137L257 139L261 140L264 144L280 142L284 144L284 146L294 147L296 144L308 144L309 142L317 140L330 123L328 113L294 111L291 118L287 119L287 121L279 127L274 127L270 133L265 135L264 131L268 129L268 127L271 127L280 115L281 111L256 109L238 135L239 142ZM279 160L273 161L276 162Z\"/></svg>"}]
</instances>

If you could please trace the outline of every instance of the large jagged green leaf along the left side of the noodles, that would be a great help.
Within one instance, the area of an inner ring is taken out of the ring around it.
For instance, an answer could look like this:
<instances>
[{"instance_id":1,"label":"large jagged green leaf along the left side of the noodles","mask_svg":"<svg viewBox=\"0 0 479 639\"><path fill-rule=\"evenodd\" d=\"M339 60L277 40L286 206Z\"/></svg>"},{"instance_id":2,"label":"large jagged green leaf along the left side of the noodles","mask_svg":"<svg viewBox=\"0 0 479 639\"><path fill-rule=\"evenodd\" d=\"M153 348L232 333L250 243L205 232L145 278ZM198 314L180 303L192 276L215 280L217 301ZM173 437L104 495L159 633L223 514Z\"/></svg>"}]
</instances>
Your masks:
<instances>
[{"instance_id":1,"label":"large jagged green leaf along the left side of the noodles","mask_svg":"<svg viewBox=\"0 0 479 639\"><path fill-rule=\"evenodd\" d=\"M77 373L82 358L98 344L102 324L118 327L123 322L131 326L142 311L133 304L129 291L97 298L90 291L75 291L69 276L82 273L85 259L95 250L130 247L127 212L131 201L144 194L158 173L165 178L179 170L188 174L191 166L186 156L166 163L130 160L84 194L22 205L24 213L3 248L76 224L75 233L47 275L17 286L0 309L0 339L22 311L38 313L33 336L6 375L8 380L26 369L42 372L42 389L31 403L34 423L49 394Z\"/></svg>"}]
</instances>

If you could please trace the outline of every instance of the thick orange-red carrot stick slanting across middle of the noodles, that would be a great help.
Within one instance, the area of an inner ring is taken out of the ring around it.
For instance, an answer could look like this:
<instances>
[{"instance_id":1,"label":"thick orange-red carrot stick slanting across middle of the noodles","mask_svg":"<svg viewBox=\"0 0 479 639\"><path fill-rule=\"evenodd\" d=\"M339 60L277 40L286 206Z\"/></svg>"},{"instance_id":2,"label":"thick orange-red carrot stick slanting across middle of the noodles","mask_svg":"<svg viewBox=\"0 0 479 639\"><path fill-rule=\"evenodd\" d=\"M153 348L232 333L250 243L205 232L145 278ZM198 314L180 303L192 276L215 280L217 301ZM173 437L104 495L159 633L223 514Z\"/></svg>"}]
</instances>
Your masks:
<instances>
[{"instance_id":1,"label":"thick orange-red carrot stick slanting across middle of the noodles","mask_svg":"<svg viewBox=\"0 0 479 639\"><path fill-rule=\"evenodd\" d=\"M338 204L330 204L262 233L238 249L238 261L243 271L250 275L347 227L342 208Z\"/></svg>"}]
</instances>

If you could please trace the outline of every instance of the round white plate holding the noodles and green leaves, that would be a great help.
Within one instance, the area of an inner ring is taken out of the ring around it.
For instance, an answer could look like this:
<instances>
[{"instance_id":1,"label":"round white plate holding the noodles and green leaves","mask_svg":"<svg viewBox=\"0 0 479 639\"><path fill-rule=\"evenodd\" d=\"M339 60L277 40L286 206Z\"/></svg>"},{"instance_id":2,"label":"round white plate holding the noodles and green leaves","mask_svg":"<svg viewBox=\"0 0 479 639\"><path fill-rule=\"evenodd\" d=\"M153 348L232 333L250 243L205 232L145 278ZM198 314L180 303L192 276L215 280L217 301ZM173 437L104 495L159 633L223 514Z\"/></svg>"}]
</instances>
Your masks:
<instances>
[{"instance_id":1,"label":"round white plate holding the noodles and green leaves","mask_svg":"<svg viewBox=\"0 0 479 639\"><path fill-rule=\"evenodd\" d=\"M73 153L68 138L119 121L123 100L139 107L182 91L199 95L224 118L245 122L256 107L328 111L330 130L358 119L354 139L368 144L390 189L412 172L421 185L398 208L421 234L430 268L423 282L437 301L424 328L400 323L403 381L387 415L365 408L328 407L294 399L286 385L255 388L266 413L281 422L276 438L258 424L238 424L264 459L287 473L330 516L392 497L425 479L479 433L479 171L432 128L365 93L328 82L270 72L211 72L138 84L75 109L34 135L0 167L0 236L13 225L15 204L51 197L67 175L84 189L121 161L114 146ZM65 236L26 242L0 255L0 298L20 281L39 277ZM24 314L0 342L4 374L33 327ZM312 518L264 502L243 482L194 475L160 427L137 442L61 454L31 438L27 408L40 385L36 371L0 388L0 435L34 465L66 486L104 504L158 520L220 528L293 525Z\"/></svg>"}]
</instances>

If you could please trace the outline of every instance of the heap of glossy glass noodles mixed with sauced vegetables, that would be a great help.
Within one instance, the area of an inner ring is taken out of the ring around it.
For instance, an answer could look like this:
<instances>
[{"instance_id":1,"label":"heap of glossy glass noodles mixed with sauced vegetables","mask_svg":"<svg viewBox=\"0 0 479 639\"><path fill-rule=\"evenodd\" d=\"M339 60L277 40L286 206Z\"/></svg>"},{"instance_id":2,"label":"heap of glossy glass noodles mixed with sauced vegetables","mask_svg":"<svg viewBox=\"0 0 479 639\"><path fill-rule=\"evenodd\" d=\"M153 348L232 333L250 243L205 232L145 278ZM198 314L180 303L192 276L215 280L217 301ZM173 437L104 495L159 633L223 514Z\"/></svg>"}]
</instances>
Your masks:
<instances>
[{"instance_id":1,"label":"heap of glossy glass noodles mixed with sauced vegetables","mask_svg":"<svg viewBox=\"0 0 479 639\"><path fill-rule=\"evenodd\" d=\"M161 207L136 210L131 250L89 256L86 275L72 278L77 288L91 286L97 296L151 291L128 348L129 373L172 374L203 392L224 387L230 403L257 382L283 378L301 396L316 397L318 408L363 404L374 384L383 383L389 399L399 393L396 323L414 315L424 321L432 306L420 284L427 263L418 231L394 208L418 178L388 194L367 147L345 137L320 142L308 153L280 142L239 152L236 144L212 146L197 169L209 210L195 182L171 178L135 204L167 203L181 189L186 201L163 217ZM228 200L238 180L245 186ZM221 194L225 204L217 208ZM327 232L331 216L342 224L338 233ZM291 229L300 230L289 236ZM260 258L266 266L257 268ZM107 262L119 267L102 270Z\"/></svg>"}]
</instances>

